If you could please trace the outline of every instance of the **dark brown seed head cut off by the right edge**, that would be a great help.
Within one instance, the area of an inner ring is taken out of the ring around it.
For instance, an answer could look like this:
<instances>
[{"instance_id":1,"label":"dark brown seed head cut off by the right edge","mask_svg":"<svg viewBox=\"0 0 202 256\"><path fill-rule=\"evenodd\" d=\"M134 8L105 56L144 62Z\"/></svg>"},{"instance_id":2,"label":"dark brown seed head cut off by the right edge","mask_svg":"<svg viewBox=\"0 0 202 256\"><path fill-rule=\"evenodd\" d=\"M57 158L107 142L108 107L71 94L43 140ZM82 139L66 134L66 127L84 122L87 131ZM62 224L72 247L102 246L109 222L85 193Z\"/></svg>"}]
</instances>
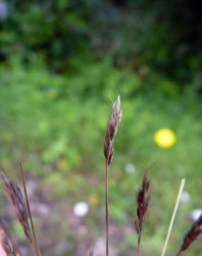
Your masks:
<instances>
[{"instance_id":1,"label":"dark brown seed head cut off by the right edge","mask_svg":"<svg viewBox=\"0 0 202 256\"><path fill-rule=\"evenodd\" d=\"M192 227L185 234L183 238L183 244L181 245L180 250L178 250L177 256L181 255L184 250L187 250L194 241L202 235L202 213L199 216L199 219L196 219L192 224Z\"/></svg>"}]
</instances>

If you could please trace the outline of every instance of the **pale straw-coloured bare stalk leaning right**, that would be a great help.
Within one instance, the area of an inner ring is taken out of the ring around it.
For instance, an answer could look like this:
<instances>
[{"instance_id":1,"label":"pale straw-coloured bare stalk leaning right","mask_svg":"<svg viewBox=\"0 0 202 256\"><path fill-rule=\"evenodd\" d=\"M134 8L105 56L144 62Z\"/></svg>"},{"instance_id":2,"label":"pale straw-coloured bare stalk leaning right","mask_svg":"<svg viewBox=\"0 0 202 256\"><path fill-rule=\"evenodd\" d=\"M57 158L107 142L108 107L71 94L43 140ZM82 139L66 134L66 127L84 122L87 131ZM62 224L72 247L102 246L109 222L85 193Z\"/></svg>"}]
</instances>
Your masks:
<instances>
[{"instance_id":1,"label":"pale straw-coloured bare stalk leaning right","mask_svg":"<svg viewBox=\"0 0 202 256\"><path fill-rule=\"evenodd\" d=\"M166 236L166 239L165 239L165 244L164 244L164 246L163 246L163 251L162 251L162 253L161 253L161 256L164 256L164 255L165 255L165 250L166 250L166 248L167 248L167 243L168 243L168 241L169 241L169 237L170 237L170 234L171 234L171 232L172 232L172 227L173 227L173 224L174 224L174 219L175 219L175 217L176 217L176 212L177 212L177 210L178 210L178 205L179 205L179 203L180 203L181 194L182 194L182 192L183 192L184 186L185 186L185 179L182 179L182 180L181 180L180 188L179 188L179 190L178 190L178 195L177 195L177 198L176 198L176 203L175 203L175 205L174 205L174 210L173 210L173 212L172 212L172 218L171 218L171 220L170 220L169 228L168 228L168 230L167 230L167 236Z\"/></svg>"}]
</instances>

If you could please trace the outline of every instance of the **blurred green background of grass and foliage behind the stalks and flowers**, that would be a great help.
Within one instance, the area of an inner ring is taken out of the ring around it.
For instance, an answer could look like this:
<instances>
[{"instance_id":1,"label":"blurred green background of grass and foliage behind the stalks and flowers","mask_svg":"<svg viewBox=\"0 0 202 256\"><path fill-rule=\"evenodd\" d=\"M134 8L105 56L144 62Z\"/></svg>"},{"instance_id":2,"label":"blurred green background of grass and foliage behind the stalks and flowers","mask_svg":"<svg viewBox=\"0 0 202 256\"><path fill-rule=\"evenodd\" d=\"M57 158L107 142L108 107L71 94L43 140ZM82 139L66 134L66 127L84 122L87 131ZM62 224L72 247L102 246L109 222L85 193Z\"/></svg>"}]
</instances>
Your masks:
<instances>
[{"instance_id":1,"label":"blurred green background of grass and foliage behind the stalks and flowers","mask_svg":"<svg viewBox=\"0 0 202 256\"><path fill-rule=\"evenodd\" d=\"M167 248L175 255L201 209L201 6L196 1L0 0L0 163L19 181L23 158L44 256L104 255L104 129L121 95L110 170L110 255L134 255L135 193L152 167L142 255L160 255L178 186L186 179ZM154 143L163 127L176 143ZM1 186L1 217L30 248ZM75 203L89 212L77 217ZM120 232L121 231L121 232ZM200 241L185 255L202 255Z\"/></svg>"}]
</instances>

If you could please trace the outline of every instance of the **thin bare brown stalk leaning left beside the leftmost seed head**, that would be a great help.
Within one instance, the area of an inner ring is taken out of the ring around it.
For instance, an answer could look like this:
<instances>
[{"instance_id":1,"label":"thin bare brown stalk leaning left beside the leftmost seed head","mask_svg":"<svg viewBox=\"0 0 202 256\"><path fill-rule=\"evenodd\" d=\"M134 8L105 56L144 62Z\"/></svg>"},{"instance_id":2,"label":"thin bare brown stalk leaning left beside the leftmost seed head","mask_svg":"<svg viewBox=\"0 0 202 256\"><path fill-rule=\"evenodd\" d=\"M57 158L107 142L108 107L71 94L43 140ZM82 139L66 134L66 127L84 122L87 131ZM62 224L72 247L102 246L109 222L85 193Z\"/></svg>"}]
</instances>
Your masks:
<instances>
[{"instance_id":1,"label":"thin bare brown stalk leaning left beside the leftmost seed head","mask_svg":"<svg viewBox=\"0 0 202 256\"><path fill-rule=\"evenodd\" d=\"M34 244L35 244L35 252L36 252L37 256L42 256L41 252L40 252L40 249L39 249L39 243L37 241L37 236L36 236L36 233L35 233L35 227L34 227L33 217L32 217L31 210L30 210L30 204L29 204L29 201L28 201L28 193L27 193L27 189L26 189L26 181L25 181L24 172L23 172L23 169L22 169L21 160L19 160L19 170L20 170L20 173L21 173L21 180L22 180L22 184L23 184L26 204L27 204L27 207L28 207L28 214L29 214L29 217L30 217L31 228L32 228L32 231L33 231Z\"/></svg>"}]
</instances>

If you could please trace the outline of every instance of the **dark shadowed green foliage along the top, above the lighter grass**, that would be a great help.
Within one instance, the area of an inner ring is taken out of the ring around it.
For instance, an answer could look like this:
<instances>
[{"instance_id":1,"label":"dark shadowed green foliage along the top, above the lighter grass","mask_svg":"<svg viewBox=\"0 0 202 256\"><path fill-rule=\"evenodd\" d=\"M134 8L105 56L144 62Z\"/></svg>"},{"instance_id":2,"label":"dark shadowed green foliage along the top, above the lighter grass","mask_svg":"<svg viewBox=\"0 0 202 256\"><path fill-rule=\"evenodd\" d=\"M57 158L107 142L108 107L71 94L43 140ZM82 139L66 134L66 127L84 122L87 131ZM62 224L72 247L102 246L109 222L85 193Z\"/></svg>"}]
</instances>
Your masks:
<instances>
[{"instance_id":1,"label":"dark shadowed green foliage along the top, above the lighter grass","mask_svg":"<svg viewBox=\"0 0 202 256\"><path fill-rule=\"evenodd\" d=\"M146 65L184 91L200 70L199 10L190 1L12 0L0 21L0 57L18 55L27 66L40 56L51 71L75 73L77 62L111 56L113 66Z\"/></svg>"}]
</instances>

